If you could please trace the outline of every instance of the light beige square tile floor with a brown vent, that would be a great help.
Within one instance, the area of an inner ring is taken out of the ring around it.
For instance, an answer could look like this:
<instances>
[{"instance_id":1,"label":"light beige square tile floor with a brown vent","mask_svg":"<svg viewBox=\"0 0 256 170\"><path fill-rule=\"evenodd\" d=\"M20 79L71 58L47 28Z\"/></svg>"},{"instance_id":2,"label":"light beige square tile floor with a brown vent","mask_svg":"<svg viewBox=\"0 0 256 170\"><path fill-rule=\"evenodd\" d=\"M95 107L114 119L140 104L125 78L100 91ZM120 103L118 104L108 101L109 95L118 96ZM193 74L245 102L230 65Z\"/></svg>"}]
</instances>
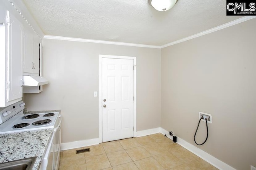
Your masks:
<instances>
[{"instance_id":1,"label":"light beige square tile floor with a brown vent","mask_svg":"<svg viewBox=\"0 0 256 170\"><path fill-rule=\"evenodd\" d=\"M59 170L218 170L157 133L60 152Z\"/></svg>"}]
</instances>

